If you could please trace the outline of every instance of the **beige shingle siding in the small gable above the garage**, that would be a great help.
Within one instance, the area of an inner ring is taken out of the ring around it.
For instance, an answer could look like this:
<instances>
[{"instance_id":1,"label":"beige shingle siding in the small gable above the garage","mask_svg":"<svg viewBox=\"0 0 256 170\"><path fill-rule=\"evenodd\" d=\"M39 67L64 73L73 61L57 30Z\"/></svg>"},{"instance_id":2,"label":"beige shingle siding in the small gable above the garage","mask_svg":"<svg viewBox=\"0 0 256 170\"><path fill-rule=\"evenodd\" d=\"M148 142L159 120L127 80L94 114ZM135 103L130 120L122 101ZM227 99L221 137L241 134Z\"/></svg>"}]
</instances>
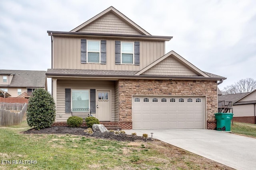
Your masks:
<instances>
[{"instance_id":1,"label":"beige shingle siding in the small gable above the garage","mask_svg":"<svg viewBox=\"0 0 256 170\"><path fill-rule=\"evenodd\" d=\"M142 73L143 75L173 75L173 76L197 76L186 66L180 64L172 57L167 57L160 63L156 64L149 70Z\"/></svg>"}]
</instances>

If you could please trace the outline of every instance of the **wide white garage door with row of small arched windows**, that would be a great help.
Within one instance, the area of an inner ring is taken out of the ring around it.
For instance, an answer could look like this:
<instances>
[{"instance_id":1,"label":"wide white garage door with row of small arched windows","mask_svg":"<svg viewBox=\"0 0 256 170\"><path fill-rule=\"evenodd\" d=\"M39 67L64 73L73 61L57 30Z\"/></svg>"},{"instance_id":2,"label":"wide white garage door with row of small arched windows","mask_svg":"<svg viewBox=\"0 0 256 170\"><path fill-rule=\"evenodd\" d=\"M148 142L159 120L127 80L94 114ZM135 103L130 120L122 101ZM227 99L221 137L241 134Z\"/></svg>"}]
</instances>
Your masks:
<instances>
[{"instance_id":1,"label":"wide white garage door with row of small arched windows","mask_svg":"<svg viewBox=\"0 0 256 170\"><path fill-rule=\"evenodd\" d=\"M133 129L204 129L202 96L133 96Z\"/></svg>"}]
</instances>

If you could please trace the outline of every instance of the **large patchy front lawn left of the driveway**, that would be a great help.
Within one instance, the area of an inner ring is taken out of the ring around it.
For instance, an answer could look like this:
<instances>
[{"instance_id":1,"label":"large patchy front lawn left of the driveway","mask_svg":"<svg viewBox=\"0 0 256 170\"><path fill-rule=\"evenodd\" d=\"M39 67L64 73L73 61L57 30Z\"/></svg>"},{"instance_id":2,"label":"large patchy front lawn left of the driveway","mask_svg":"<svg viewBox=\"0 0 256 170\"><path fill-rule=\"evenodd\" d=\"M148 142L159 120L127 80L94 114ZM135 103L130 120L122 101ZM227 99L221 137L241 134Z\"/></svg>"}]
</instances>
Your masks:
<instances>
[{"instance_id":1,"label":"large patchy front lawn left of the driveway","mask_svg":"<svg viewBox=\"0 0 256 170\"><path fill-rule=\"evenodd\" d=\"M26 121L0 127L1 170L232 169L161 141L120 142L66 134L20 133L28 129ZM17 160L16 164L8 163L13 160Z\"/></svg>"}]
</instances>

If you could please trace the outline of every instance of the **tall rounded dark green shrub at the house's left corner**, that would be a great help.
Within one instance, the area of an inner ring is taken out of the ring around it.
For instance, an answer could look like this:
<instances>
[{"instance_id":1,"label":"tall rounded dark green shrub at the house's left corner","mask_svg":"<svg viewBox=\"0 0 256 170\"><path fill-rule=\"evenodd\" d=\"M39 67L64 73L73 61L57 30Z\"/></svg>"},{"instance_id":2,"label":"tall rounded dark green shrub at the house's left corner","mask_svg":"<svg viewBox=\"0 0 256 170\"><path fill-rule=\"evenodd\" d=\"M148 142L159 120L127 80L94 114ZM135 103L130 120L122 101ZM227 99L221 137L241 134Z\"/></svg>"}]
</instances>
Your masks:
<instances>
[{"instance_id":1,"label":"tall rounded dark green shrub at the house's left corner","mask_svg":"<svg viewBox=\"0 0 256 170\"><path fill-rule=\"evenodd\" d=\"M52 95L44 88L34 90L28 101L26 116L30 127L38 130L51 127L56 116Z\"/></svg>"}]
</instances>

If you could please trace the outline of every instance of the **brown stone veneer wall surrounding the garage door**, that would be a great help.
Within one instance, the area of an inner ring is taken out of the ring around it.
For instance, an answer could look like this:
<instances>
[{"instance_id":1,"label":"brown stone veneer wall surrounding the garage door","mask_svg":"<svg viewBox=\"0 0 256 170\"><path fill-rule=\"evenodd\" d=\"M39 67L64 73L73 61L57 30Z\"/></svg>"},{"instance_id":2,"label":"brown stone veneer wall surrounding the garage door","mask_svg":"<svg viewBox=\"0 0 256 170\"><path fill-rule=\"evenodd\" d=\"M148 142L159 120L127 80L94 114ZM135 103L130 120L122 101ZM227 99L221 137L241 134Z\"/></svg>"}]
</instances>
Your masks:
<instances>
[{"instance_id":1,"label":"brown stone veneer wall surrounding the garage door","mask_svg":"<svg viewBox=\"0 0 256 170\"><path fill-rule=\"evenodd\" d=\"M118 81L119 121L132 122L132 95L206 96L207 129L216 127L218 112L217 81L202 80L126 80ZM130 129L130 128L129 128Z\"/></svg>"}]
</instances>

